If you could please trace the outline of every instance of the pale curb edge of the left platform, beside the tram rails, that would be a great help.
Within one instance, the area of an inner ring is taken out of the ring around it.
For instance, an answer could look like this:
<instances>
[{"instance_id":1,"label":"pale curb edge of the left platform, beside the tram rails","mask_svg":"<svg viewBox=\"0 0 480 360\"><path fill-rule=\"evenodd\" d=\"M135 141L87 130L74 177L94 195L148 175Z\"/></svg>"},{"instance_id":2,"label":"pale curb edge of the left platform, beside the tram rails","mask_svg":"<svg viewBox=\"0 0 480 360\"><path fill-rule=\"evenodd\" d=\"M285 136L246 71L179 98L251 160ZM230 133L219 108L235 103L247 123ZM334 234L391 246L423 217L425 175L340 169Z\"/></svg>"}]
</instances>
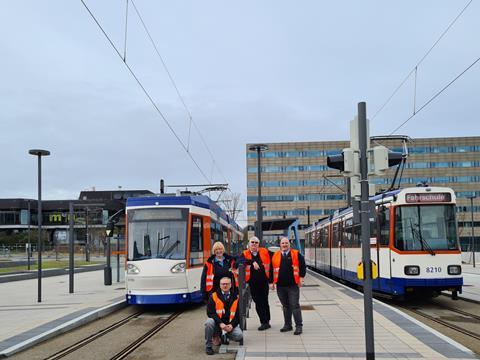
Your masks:
<instances>
[{"instance_id":1,"label":"pale curb edge of the left platform, beside the tram rails","mask_svg":"<svg viewBox=\"0 0 480 360\"><path fill-rule=\"evenodd\" d=\"M17 352L28 349L38 343L51 339L57 335L66 333L69 330L75 329L79 326L85 325L93 320L105 317L123 307L127 306L125 300L118 301L116 303L103 306L101 308L92 310L84 315L81 315L75 319L69 320L62 325L56 326L51 330L45 331L39 335L36 335L28 340L22 341L16 345L13 345L2 352L0 352L0 358L9 357Z\"/></svg>"}]
</instances>

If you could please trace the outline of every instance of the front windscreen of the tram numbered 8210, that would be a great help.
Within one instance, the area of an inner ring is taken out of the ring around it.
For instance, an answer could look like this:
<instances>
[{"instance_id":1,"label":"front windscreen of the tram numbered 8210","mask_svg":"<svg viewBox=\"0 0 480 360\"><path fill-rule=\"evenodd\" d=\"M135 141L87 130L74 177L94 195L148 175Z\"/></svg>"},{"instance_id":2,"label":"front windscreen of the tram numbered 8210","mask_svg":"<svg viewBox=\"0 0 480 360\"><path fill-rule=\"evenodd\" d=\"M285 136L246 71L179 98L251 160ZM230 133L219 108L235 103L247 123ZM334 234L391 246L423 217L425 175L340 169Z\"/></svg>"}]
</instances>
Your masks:
<instances>
[{"instance_id":1,"label":"front windscreen of the tram numbered 8210","mask_svg":"<svg viewBox=\"0 0 480 360\"><path fill-rule=\"evenodd\" d=\"M399 206L395 247L403 251L458 250L454 205Z\"/></svg>"}]
</instances>

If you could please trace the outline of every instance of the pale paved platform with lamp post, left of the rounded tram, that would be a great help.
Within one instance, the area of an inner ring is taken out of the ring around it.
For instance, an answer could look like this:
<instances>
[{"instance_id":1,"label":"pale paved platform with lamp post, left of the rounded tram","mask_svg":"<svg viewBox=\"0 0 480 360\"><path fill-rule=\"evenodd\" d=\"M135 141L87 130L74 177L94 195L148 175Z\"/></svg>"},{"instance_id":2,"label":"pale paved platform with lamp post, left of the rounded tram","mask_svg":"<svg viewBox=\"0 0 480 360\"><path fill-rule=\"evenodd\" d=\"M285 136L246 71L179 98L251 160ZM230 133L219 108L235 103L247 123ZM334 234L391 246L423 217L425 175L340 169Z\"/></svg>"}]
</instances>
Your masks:
<instances>
[{"instance_id":1,"label":"pale paved platform with lamp post, left of the rounded tram","mask_svg":"<svg viewBox=\"0 0 480 360\"><path fill-rule=\"evenodd\" d=\"M103 270L75 274L75 292L68 275L42 280L0 283L0 357L14 354L126 305L124 283L103 284Z\"/></svg>"}]
</instances>

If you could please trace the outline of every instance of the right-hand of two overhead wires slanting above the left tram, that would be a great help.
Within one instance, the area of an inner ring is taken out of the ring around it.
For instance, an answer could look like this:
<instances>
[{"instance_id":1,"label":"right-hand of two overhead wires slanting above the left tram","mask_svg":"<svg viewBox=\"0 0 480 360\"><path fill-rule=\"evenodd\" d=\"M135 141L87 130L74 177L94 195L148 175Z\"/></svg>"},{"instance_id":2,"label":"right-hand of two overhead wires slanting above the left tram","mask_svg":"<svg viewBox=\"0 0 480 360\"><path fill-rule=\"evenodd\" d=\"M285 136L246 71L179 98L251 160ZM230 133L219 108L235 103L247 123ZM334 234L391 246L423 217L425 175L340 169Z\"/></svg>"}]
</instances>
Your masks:
<instances>
[{"instance_id":1,"label":"right-hand of two overhead wires slanting above the left tram","mask_svg":"<svg viewBox=\"0 0 480 360\"><path fill-rule=\"evenodd\" d=\"M131 3L132 3L132 6L138 16L138 18L140 19L140 22L142 24L142 27L143 29L145 30L145 33L147 34L152 46L153 46L153 49L155 50L155 53L157 54L158 58L160 59L160 62L162 63L162 66L165 70L165 72L167 73L167 76L168 78L170 79L170 82L173 86L173 88L175 89L175 92L177 93L177 96L180 100L180 102L182 103L183 105L183 108L185 109L185 112L187 113L187 116L188 116L188 119L189 119L189 129L188 129L188 141L187 141L187 150L189 151L190 149L190 135L191 135L191 127L192 127L192 124L193 124L193 127L195 128L196 132L198 133L199 137L200 137L200 140L202 141L205 149L207 150L208 154L210 155L210 158L212 159L212 163L213 163L213 168L216 168L218 173L223 177L223 180L228 183L225 175L223 174L223 172L221 171L221 169L218 167L218 162L215 160L215 156L213 155L212 151L210 150L210 147L208 146L207 142L205 141L205 138L203 137L202 135L202 132L200 131L199 127L197 126L197 123L194 121L193 119L193 116L192 116L192 113L190 111L190 109L188 108L187 106L187 103L184 99L184 97L182 96L182 94L180 93L180 90L173 78L173 75L172 73L170 72L170 70L168 69L167 67L167 64L165 62L165 60L163 59L162 55L160 54L160 51L158 50L158 46L155 42L155 40L153 39L150 31L148 30L148 26L146 24L146 22L144 21L143 19L143 16L142 14L140 13L140 10L138 9L138 7L136 6L134 0L130 0ZM213 176L213 175L212 175ZM230 189L229 189L230 191Z\"/></svg>"}]
</instances>

